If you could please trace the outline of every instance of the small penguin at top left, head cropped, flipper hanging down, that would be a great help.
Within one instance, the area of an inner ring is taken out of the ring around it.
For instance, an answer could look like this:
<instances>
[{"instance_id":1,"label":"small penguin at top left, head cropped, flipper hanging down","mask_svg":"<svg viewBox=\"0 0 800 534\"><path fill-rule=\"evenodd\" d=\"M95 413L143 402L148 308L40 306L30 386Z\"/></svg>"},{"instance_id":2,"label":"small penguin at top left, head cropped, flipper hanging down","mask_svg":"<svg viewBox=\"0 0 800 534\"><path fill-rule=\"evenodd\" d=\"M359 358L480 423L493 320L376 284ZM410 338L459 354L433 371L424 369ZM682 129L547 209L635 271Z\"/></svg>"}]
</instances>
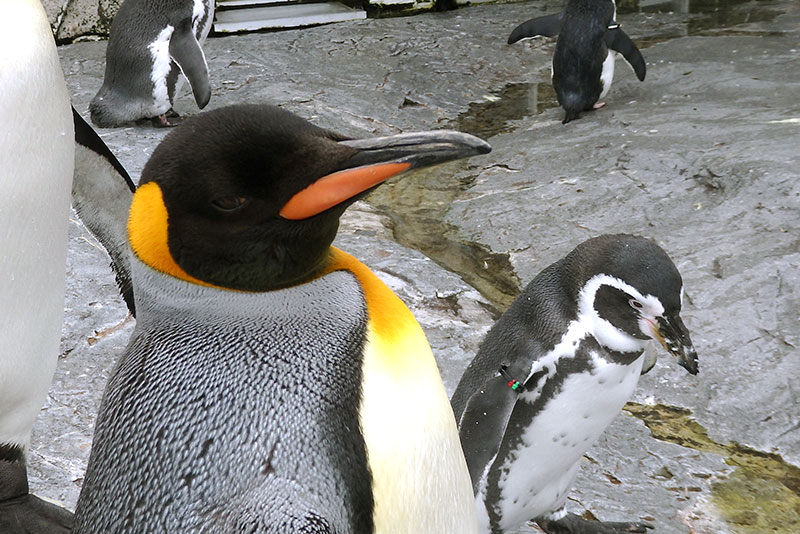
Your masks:
<instances>
[{"instance_id":1,"label":"small penguin at top left, head cropped, flipper hanging down","mask_svg":"<svg viewBox=\"0 0 800 534\"><path fill-rule=\"evenodd\" d=\"M201 45L213 19L213 0L126 0L111 23L103 85L89 103L92 122L111 128L152 119L174 126L180 73L203 109L211 85Z\"/></svg>"}]
</instances>

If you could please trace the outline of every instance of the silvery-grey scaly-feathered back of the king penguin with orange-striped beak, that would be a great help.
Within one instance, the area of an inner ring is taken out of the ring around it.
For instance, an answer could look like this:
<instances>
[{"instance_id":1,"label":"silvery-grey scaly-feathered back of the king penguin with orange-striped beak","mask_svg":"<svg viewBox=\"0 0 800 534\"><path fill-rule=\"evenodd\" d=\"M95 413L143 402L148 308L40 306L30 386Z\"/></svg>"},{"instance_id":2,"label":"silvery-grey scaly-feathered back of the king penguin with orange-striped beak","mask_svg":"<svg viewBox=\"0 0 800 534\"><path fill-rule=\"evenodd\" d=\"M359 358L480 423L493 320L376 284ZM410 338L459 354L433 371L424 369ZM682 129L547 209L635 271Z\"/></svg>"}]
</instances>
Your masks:
<instances>
[{"instance_id":1,"label":"silvery-grey scaly-feathered back of the king penguin with orange-striped beak","mask_svg":"<svg viewBox=\"0 0 800 534\"><path fill-rule=\"evenodd\" d=\"M74 532L371 528L355 278L259 294L134 271L136 330L106 389Z\"/></svg>"}]
</instances>

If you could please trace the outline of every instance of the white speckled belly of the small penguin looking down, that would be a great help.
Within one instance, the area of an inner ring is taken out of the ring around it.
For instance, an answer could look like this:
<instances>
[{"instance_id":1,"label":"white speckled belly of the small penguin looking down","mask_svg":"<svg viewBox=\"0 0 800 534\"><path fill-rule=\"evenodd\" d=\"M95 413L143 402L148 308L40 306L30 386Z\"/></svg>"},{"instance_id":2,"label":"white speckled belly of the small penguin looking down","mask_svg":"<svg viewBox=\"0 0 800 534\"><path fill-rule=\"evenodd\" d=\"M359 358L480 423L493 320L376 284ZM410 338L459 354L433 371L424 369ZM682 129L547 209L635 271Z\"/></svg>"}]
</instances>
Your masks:
<instances>
[{"instance_id":1,"label":"white speckled belly of the small penguin looking down","mask_svg":"<svg viewBox=\"0 0 800 534\"><path fill-rule=\"evenodd\" d=\"M592 373L564 381L561 392L526 429L524 446L504 464L499 481L504 525L517 525L563 506L581 457L633 393L643 358L630 365L597 356L593 360Z\"/></svg>"}]
</instances>

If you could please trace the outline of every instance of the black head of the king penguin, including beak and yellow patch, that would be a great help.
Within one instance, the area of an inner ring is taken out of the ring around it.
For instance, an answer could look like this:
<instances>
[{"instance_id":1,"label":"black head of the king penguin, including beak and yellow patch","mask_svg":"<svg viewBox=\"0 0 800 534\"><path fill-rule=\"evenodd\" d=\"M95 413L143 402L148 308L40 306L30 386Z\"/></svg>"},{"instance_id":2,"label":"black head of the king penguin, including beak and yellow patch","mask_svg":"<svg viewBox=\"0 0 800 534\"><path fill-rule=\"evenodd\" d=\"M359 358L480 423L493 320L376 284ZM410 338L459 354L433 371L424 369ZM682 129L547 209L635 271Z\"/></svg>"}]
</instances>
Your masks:
<instances>
[{"instance_id":1,"label":"black head of the king penguin, including beak and yellow patch","mask_svg":"<svg viewBox=\"0 0 800 534\"><path fill-rule=\"evenodd\" d=\"M131 204L131 247L193 282L264 291L324 266L339 217L390 176L485 153L458 132L348 140L267 105L186 120L145 165Z\"/></svg>"}]
</instances>

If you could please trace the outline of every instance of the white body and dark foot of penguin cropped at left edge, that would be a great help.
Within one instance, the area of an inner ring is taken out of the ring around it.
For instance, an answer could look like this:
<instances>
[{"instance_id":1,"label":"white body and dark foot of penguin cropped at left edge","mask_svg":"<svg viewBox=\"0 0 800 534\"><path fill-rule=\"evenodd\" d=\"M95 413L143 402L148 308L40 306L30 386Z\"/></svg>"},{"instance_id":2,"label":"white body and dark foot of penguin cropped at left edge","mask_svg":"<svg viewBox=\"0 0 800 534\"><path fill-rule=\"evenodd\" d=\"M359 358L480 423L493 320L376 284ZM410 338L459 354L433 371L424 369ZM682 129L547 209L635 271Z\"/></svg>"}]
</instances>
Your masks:
<instances>
[{"instance_id":1,"label":"white body and dark foot of penguin cropped at left edge","mask_svg":"<svg viewBox=\"0 0 800 534\"><path fill-rule=\"evenodd\" d=\"M0 532L69 532L28 490L31 428L58 361L74 141L38 0L0 2Z\"/></svg>"}]
</instances>

